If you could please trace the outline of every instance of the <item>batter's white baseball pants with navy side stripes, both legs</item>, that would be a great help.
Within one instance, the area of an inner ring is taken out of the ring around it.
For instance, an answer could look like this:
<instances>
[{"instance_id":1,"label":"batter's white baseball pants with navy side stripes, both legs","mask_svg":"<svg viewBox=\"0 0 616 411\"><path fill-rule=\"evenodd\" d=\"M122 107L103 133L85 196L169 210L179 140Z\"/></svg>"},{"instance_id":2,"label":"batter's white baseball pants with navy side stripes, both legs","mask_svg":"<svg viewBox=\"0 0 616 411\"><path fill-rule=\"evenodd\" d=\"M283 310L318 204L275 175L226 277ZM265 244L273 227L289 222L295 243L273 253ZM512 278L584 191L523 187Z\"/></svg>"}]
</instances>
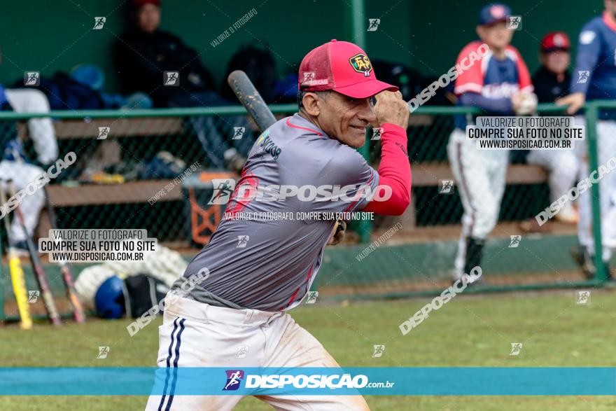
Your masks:
<instances>
[{"instance_id":1,"label":"batter's white baseball pants with navy side stripes, both legs","mask_svg":"<svg viewBox=\"0 0 616 411\"><path fill-rule=\"evenodd\" d=\"M339 367L323 345L289 314L214 307L188 298L177 298L165 307L159 344L159 367ZM244 358L238 358L239 352ZM225 411L232 410L241 398L174 396L166 392L164 396L150 396L146 411ZM369 410L362 396L256 398L276 410Z\"/></svg>"}]
</instances>

